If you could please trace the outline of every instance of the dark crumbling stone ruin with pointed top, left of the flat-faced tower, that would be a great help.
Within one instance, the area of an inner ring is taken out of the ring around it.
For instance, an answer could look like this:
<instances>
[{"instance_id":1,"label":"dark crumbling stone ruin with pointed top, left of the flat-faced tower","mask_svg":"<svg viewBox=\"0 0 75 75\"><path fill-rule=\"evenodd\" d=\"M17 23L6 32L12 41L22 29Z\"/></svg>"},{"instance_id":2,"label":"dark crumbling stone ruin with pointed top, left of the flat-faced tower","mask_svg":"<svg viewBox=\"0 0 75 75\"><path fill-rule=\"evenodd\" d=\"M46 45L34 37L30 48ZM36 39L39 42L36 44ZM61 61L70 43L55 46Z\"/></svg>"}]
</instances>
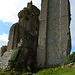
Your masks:
<instances>
[{"instance_id":1,"label":"dark crumbling stone ruin with pointed top, left of the flat-faced tower","mask_svg":"<svg viewBox=\"0 0 75 75\"><path fill-rule=\"evenodd\" d=\"M31 67L33 67L32 65L36 64L36 51L39 34L39 14L40 10L34 6L31 1L27 4L27 7L18 13L18 23L13 24L10 28L9 42L6 53L10 52L10 50L14 52L14 50L16 50L18 47L21 48L21 51L17 57L17 68L21 69L28 67L31 69ZM10 55L12 55L12 53ZM5 56L6 54L3 56L3 58ZM8 63L7 59L3 60Z\"/></svg>"}]
</instances>

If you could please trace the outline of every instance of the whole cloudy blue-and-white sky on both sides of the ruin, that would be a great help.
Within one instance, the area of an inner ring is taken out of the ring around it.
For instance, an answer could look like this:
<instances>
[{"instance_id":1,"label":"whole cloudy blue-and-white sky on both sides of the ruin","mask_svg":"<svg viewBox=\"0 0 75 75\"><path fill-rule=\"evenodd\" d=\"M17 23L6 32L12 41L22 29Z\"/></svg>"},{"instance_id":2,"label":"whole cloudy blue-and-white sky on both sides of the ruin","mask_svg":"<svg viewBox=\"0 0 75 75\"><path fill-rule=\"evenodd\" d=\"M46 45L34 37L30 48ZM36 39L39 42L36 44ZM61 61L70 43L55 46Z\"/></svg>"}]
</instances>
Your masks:
<instances>
[{"instance_id":1,"label":"whole cloudy blue-and-white sky on both sides of the ruin","mask_svg":"<svg viewBox=\"0 0 75 75\"><path fill-rule=\"evenodd\" d=\"M27 6L31 0L0 0L0 47L8 42L9 29L13 23L18 21L17 14ZM41 0L32 0L33 4L41 9ZM71 4L71 37L72 52L75 52L75 0Z\"/></svg>"}]
</instances>

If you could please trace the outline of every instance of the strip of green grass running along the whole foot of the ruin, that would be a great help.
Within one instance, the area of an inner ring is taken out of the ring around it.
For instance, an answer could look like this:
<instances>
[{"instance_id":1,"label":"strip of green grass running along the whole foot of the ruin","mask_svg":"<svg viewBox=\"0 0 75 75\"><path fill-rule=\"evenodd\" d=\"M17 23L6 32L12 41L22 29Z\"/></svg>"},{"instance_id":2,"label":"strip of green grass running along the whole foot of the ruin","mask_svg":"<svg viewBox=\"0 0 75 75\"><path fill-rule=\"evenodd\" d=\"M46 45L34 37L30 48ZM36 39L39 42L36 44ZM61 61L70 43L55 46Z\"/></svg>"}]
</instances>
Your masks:
<instances>
[{"instance_id":1,"label":"strip of green grass running along the whole foot of the ruin","mask_svg":"<svg viewBox=\"0 0 75 75\"><path fill-rule=\"evenodd\" d=\"M44 69L37 73L20 73L20 72L5 72L1 71L0 75L75 75L75 68L50 68Z\"/></svg>"}]
</instances>

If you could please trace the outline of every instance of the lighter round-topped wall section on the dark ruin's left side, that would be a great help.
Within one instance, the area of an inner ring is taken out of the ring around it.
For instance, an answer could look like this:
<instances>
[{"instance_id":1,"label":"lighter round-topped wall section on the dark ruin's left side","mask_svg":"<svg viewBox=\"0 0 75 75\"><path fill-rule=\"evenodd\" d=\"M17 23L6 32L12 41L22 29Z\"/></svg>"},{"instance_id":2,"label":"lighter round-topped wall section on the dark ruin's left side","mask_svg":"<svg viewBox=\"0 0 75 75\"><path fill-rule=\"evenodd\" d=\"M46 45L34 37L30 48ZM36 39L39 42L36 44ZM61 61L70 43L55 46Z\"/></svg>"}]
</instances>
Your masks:
<instances>
[{"instance_id":1,"label":"lighter round-topped wall section on the dark ruin's left side","mask_svg":"<svg viewBox=\"0 0 75 75\"><path fill-rule=\"evenodd\" d=\"M19 41L19 24L15 23L10 28L7 50L16 49Z\"/></svg>"}]
</instances>

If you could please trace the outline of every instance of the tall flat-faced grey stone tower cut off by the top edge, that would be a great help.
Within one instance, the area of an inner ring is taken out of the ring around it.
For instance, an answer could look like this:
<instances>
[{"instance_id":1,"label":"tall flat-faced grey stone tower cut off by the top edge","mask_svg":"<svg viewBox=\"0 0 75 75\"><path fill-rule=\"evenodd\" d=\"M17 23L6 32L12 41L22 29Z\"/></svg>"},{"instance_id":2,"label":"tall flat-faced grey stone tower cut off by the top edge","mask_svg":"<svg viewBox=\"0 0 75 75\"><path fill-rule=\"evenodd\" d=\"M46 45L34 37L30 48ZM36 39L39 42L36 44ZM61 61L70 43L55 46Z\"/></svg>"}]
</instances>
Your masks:
<instances>
[{"instance_id":1,"label":"tall flat-faced grey stone tower cut off by the top edge","mask_svg":"<svg viewBox=\"0 0 75 75\"><path fill-rule=\"evenodd\" d=\"M60 66L70 54L69 0L42 0L37 66Z\"/></svg>"}]
</instances>

